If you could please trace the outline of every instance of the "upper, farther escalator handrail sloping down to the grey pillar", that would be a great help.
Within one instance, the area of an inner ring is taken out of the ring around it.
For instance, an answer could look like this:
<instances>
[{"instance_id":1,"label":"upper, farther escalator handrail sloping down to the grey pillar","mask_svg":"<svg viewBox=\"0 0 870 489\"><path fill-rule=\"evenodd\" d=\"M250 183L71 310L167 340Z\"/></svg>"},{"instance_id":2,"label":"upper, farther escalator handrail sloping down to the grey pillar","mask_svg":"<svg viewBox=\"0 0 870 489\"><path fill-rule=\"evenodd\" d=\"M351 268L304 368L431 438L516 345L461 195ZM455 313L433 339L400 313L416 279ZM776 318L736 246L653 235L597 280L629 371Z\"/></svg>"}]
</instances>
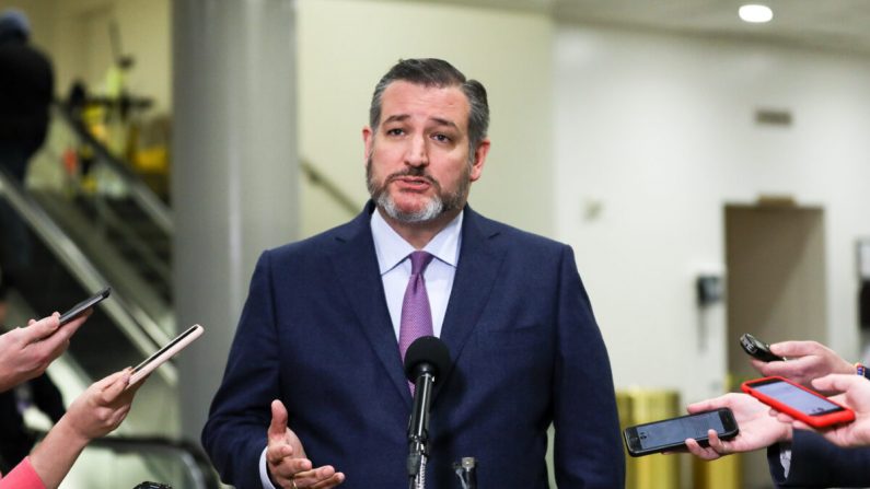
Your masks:
<instances>
[{"instance_id":1,"label":"upper, farther escalator handrail sloping down to the grey pillar","mask_svg":"<svg viewBox=\"0 0 870 489\"><path fill-rule=\"evenodd\" d=\"M62 116L63 121L69 126L76 136L81 138L84 142L90 144L100 159L105 162L112 170L120 176L127 188L130 189L130 195L139 207L151 218L151 220L167 235L172 236L175 229L173 222L172 211L160 197L156 196L144 183L134 173L130 167L121 162L117 156L112 154L106 147L100 142L91 131L84 126L84 123L62 103L56 102L55 108L57 113Z\"/></svg>"}]
</instances>

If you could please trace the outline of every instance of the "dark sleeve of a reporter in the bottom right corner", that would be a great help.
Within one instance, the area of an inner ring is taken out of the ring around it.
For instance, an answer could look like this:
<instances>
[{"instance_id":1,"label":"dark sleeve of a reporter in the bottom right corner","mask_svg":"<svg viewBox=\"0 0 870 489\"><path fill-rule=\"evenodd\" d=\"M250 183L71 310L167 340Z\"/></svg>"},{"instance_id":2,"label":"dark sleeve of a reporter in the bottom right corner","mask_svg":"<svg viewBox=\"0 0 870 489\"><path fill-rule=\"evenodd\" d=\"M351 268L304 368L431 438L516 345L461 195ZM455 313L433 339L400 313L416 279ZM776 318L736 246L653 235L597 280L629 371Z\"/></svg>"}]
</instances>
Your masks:
<instances>
[{"instance_id":1,"label":"dark sleeve of a reporter in the bottom right corner","mask_svg":"<svg viewBox=\"0 0 870 489\"><path fill-rule=\"evenodd\" d=\"M817 433L794 430L788 477L779 452L779 445L767 449L770 476L777 487L870 486L870 449L843 449Z\"/></svg>"}]
</instances>

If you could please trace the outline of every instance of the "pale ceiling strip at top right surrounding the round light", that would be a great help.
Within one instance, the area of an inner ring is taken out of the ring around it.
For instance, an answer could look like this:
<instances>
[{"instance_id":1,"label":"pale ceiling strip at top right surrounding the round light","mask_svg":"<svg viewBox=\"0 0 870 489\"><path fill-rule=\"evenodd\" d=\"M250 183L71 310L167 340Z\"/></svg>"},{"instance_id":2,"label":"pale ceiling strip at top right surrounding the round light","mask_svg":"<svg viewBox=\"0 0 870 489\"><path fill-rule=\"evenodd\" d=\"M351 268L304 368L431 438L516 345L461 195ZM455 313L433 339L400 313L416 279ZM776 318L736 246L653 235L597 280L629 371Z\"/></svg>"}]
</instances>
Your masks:
<instances>
[{"instance_id":1,"label":"pale ceiling strip at top right surrounding the round light","mask_svg":"<svg viewBox=\"0 0 870 489\"><path fill-rule=\"evenodd\" d=\"M443 0L442 0L443 1ZM738 37L870 55L870 0L451 0L544 12L560 23ZM743 3L774 10L767 24L738 18Z\"/></svg>"}]
</instances>

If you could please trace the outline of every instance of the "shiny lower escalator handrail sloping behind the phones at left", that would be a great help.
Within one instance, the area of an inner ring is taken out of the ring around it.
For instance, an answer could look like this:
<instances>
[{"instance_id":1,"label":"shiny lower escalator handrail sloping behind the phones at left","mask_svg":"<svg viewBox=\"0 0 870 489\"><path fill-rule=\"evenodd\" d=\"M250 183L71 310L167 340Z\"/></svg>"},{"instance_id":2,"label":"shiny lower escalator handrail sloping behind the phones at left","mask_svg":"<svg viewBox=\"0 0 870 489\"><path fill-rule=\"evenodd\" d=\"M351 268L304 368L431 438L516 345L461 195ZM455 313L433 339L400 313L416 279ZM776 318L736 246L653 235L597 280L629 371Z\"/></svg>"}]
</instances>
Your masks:
<instances>
[{"instance_id":1,"label":"shiny lower escalator handrail sloping behind the phones at left","mask_svg":"<svg viewBox=\"0 0 870 489\"><path fill-rule=\"evenodd\" d=\"M86 290L106 287L108 280L94 267L81 248L2 167L0 167L0 194L82 287ZM143 358L151 356L171 339L141 307L125 300L119 293L113 294L111 301L104 301L101 307L120 327ZM178 372L172 363L167 362L158 369L158 372L170 385L177 384Z\"/></svg>"}]
</instances>

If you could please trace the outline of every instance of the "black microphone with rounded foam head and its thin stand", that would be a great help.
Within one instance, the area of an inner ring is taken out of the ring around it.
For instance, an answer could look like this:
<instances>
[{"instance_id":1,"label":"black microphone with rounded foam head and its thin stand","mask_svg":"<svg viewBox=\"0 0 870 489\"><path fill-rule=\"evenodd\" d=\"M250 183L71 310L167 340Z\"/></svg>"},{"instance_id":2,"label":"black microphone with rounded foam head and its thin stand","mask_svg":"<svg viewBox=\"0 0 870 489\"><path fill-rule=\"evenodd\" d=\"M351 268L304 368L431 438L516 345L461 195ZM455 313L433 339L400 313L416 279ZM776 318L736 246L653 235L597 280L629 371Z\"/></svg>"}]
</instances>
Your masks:
<instances>
[{"instance_id":1,"label":"black microphone with rounded foam head and its thin stand","mask_svg":"<svg viewBox=\"0 0 870 489\"><path fill-rule=\"evenodd\" d=\"M420 473L429 441L429 405L432 385L450 368L446 345L434 336L414 340L405 352L405 375L414 383L414 407L408 422L408 477L413 481Z\"/></svg>"}]
</instances>

